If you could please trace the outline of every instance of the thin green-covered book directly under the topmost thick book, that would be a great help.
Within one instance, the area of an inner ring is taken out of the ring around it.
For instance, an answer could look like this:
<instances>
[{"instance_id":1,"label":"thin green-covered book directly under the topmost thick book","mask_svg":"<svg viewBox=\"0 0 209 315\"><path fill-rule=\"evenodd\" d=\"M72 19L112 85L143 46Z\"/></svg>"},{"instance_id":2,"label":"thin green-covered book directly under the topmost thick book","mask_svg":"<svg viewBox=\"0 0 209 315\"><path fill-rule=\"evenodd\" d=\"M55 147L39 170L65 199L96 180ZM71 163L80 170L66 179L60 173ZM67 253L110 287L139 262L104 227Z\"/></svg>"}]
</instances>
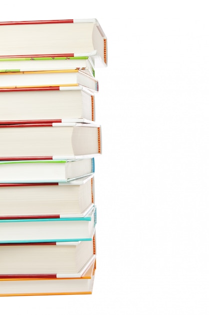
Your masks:
<instances>
[{"instance_id":1,"label":"thin green-covered book directly under the topmost thick book","mask_svg":"<svg viewBox=\"0 0 209 315\"><path fill-rule=\"evenodd\" d=\"M81 69L95 76L90 57L0 58L0 72Z\"/></svg>"}]
</instances>

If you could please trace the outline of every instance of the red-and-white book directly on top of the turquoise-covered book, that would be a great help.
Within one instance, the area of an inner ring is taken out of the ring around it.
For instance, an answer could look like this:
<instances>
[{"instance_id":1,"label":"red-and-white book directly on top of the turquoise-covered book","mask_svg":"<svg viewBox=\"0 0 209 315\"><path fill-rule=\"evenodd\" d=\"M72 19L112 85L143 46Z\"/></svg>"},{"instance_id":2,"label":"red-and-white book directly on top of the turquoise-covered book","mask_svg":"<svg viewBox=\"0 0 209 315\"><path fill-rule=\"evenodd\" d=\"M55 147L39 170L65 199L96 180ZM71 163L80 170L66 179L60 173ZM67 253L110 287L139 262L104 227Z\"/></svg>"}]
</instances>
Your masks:
<instances>
[{"instance_id":1,"label":"red-and-white book directly on top of the turquoise-covered book","mask_svg":"<svg viewBox=\"0 0 209 315\"><path fill-rule=\"evenodd\" d=\"M0 218L84 217L95 203L94 175L67 183L0 184Z\"/></svg>"}]
</instances>

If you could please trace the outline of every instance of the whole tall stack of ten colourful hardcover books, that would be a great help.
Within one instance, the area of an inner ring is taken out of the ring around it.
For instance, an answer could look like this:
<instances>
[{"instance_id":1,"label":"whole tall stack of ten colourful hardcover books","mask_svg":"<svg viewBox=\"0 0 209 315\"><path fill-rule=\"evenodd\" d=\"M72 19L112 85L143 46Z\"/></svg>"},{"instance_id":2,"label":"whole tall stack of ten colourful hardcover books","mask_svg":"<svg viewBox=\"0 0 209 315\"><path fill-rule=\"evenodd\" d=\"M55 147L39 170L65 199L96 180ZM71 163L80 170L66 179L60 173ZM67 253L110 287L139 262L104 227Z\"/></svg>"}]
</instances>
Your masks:
<instances>
[{"instance_id":1,"label":"whole tall stack of ten colourful hardcover books","mask_svg":"<svg viewBox=\"0 0 209 315\"><path fill-rule=\"evenodd\" d=\"M0 23L0 296L91 294L96 19Z\"/></svg>"}]
</instances>

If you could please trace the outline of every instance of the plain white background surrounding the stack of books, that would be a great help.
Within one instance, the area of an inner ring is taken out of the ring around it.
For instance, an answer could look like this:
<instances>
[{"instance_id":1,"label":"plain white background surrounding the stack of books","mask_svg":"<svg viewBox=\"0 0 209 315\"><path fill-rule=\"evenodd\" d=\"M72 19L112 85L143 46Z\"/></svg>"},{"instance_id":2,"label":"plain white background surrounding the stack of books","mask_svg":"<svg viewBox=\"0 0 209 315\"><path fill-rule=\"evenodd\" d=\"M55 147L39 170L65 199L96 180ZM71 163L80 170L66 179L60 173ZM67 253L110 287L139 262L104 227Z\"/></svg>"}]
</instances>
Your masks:
<instances>
[{"instance_id":1,"label":"plain white background surrounding the stack of books","mask_svg":"<svg viewBox=\"0 0 209 315\"><path fill-rule=\"evenodd\" d=\"M108 39L93 294L4 297L2 312L208 314L207 1L4 2L0 18L96 18Z\"/></svg>"}]
</instances>

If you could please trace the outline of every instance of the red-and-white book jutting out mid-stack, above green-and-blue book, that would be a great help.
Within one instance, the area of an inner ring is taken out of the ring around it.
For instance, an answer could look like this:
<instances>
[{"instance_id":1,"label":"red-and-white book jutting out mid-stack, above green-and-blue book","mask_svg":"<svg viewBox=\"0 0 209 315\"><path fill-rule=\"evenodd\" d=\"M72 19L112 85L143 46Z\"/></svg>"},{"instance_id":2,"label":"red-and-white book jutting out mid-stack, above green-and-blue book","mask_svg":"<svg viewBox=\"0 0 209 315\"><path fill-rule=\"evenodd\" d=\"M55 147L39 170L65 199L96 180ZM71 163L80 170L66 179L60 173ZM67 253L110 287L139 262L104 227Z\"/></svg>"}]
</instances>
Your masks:
<instances>
[{"instance_id":1,"label":"red-and-white book jutting out mid-stack, above green-and-blue book","mask_svg":"<svg viewBox=\"0 0 209 315\"><path fill-rule=\"evenodd\" d=\"M0 160L4 161L82 159L101 153L101 126L86 123L0 125L0 147Z\"/></svg>"}]
</instances>

